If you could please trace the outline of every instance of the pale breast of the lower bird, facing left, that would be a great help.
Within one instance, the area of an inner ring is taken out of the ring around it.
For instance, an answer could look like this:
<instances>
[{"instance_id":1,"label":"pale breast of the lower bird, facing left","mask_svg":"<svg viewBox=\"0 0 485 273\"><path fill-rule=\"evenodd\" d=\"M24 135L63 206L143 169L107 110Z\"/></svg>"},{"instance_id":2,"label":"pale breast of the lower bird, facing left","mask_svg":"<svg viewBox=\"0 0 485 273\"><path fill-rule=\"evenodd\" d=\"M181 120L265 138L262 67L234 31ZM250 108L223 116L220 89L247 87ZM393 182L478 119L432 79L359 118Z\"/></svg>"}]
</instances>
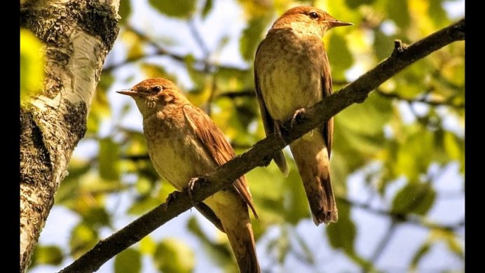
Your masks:
<instances>
[{"instance_id":1,"label":"pale breast of the lower bird, facing left","mask_svg":"<svg viewBox=\"0 0 485 273\"><path fill-rule=\"evenodd\" d=\"M158 112L144 118L144 134L153 167L177 190L214 168L183 115Z\"/></svg>"}]
</instances>

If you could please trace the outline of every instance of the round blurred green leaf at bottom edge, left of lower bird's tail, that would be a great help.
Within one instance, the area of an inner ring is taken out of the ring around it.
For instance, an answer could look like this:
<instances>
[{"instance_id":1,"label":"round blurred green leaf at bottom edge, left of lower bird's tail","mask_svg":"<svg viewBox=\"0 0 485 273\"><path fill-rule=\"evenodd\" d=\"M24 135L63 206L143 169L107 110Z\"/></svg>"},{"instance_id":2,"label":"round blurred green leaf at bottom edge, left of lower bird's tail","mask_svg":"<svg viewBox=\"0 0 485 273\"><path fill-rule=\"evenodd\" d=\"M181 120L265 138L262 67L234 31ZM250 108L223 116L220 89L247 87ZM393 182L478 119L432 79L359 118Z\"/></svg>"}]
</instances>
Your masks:
<instances>
[{"instance_id":1,"label":"round blurred green leaf at bottom edge, left of lower bird's tail","mask_svg":"<svg viewBox=\"0 0 485 273\"><path fill-rule=\"evenodd\" d=\"M162 272L192 272L195 265L195 255L192 249L177 239L164 239L158 244L153 255L158 270Z\"/></svg>"}]
</instances>

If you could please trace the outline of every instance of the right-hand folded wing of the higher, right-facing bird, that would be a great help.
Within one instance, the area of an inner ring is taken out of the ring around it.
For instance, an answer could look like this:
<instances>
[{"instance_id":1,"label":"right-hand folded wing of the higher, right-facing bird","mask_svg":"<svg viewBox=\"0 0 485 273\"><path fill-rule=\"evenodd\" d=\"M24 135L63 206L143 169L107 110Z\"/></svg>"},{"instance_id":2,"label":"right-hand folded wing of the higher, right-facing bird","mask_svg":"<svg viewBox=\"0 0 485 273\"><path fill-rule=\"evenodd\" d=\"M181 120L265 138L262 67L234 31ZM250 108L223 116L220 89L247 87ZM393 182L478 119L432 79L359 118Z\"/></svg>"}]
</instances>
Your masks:
<instances>
[{"instance_id":1,"label":"right-hand folded wing of the higher, right-facing bird","mask_svg":"<svg viewBox=\"0 0 485 273\"><path fill-rule=\"evenodd\" d=\"M322 45L323 46L323 45ZM332 74L330 72L329 59L327 53L321 50L322 58L322 94L323 99L329 97L332 94ZM322 124L322 136L327 144L327 151L332 153L332 143L334 142L334 118L330 118L327 123Z\"/></svg>"}]
</instances>

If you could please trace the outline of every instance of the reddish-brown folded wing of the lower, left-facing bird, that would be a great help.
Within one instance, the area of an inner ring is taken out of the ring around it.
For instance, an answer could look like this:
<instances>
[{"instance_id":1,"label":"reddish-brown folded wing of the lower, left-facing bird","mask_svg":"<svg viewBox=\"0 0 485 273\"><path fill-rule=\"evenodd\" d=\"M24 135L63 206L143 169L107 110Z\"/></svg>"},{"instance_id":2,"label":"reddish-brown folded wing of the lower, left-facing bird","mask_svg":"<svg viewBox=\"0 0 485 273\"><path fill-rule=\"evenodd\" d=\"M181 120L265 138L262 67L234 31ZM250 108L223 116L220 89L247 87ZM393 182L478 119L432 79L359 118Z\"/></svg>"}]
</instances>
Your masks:
<instances>
[{"instance_id":1,"label":"reddish-brown folded wing of the lower, left-facing bird","mask_svg":"<svg viewBox=\"0 0 485 273\"><path fill-rule=\"evenodd\" d=\"M184 105L183 111L193 132L198 137L200 143L203 144L205 151L216 162L217 166L223 165L235 157L233 147L228 144L224 133L212 122L204 111L191 104ZM254 205L252 204L252 197L250 189L247 186L246 177L241 176L233 183L233 186L251 208L254 216L258 218L256 209L254 209Z\"/></svg>"}]
</instances>

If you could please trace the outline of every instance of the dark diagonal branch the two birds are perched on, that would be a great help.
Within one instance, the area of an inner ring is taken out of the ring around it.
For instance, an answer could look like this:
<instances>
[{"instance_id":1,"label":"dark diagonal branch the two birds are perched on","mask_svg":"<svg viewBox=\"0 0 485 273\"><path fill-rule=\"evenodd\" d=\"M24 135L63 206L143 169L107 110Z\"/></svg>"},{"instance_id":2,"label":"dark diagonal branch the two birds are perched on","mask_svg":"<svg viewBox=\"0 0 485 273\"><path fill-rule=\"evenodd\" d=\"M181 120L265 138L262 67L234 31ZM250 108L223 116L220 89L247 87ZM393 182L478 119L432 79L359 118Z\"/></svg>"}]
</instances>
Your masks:
<instances>
[{"instance_id":1,"label":"dark diagonal branch the two birds are perched on","mask_svg":"<svg viewBox=\"0 0 485 273\"><path fill-rule=\"evenodd\" d=\"M306 117L299 120L291 131L283 132L283 138L270 135L252 146L249 151L238 155L233 160L214 169L214 171L200 178L192 191L192 200L189 193L183 191L172 195L170 202L161 204L144 216L133 221L125 228L114 233L107 239L96 244L88 253L84 254L61 272L93 272L100 268L114 255L141 240L150 232L175 218L182 212L190 209L193 204L202 202L225 186L230 186L240 176L250 172L255 167L263 167L271 162L273 155L292 141L306 134L332 116L346 109L354 103L361 103L367 98L371 90L388 80L404 67L416 62L439 48L465 40L465 19L445 27L412 45L404 45L395 41L395 50L385 61L374 69L360 76L347 87L332 94L327 99L307 109ZM288 125L288 122L285 123Z\"/></svg>"}]
</instances>

